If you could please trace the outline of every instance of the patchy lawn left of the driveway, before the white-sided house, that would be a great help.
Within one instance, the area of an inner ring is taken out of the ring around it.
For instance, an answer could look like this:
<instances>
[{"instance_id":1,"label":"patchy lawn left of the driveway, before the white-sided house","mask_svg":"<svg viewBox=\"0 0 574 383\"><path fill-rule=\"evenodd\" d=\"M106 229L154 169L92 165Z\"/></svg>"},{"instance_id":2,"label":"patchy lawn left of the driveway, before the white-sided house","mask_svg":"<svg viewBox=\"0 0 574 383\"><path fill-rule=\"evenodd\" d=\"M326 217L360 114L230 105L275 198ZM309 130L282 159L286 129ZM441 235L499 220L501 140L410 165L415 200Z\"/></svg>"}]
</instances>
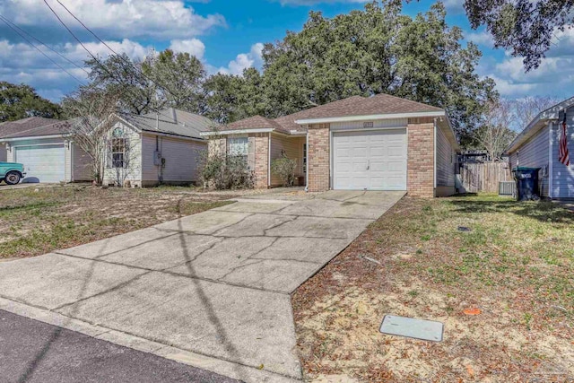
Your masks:
<instances>
[{"instance_id":1,"label":"patchy lawn left of the driveway, before the white-sided house","mask_svg":"<svg viewBox=\"0 0 574 383\"><path fill-rule=\"evenodd\" d=\"M0 192L0 259L32 257L229 204L190 187L27 187Z\"/></svg>"}]
</instances>

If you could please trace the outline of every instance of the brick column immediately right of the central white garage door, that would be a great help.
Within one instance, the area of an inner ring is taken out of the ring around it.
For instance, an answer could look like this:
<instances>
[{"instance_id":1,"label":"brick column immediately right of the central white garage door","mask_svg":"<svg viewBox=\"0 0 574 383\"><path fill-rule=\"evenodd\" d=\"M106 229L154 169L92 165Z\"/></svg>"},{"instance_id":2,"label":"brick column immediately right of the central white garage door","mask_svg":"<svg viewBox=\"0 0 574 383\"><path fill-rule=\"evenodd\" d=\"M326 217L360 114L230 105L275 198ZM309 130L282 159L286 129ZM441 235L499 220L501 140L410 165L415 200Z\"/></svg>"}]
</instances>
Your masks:
<instances>
[{"instance_id":1,"label":"brick column immediately right of the central white garage door","mask_svg":"<svg viewBox=\"0 0 574 383\"><path fill-rule=\"evenodd\" d=\"M432 120L409 120L407 167L408 195L434 197L434 123Z\"/></svg>"}]
</instances>

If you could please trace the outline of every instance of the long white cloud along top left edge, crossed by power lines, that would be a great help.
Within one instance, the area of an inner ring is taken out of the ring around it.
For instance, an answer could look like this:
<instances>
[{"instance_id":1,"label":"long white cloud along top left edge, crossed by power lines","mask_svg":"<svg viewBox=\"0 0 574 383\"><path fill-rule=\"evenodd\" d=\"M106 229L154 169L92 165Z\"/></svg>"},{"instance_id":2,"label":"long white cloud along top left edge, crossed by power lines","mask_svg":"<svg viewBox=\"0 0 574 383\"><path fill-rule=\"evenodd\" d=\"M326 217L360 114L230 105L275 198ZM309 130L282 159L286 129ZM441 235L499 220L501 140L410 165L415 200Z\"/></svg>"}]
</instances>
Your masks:
<instances>
[{"instance_id":1,"label":"long white cloud along top left edge, crossed by power lines","mask_svg":"<svg viewBox=\"0 0 574 383\"><path fill-rule=\"evenodd\" d=\"M184 39L225 25L222 15L196 14L192 7L179 0L62 0L62 3L103 38ZM66 24L82 28L56 1L51 0L49 4ZM39 0L4 0L0 13L24 27L57 24L55 16Z\"/></svg>"}]
</instances>

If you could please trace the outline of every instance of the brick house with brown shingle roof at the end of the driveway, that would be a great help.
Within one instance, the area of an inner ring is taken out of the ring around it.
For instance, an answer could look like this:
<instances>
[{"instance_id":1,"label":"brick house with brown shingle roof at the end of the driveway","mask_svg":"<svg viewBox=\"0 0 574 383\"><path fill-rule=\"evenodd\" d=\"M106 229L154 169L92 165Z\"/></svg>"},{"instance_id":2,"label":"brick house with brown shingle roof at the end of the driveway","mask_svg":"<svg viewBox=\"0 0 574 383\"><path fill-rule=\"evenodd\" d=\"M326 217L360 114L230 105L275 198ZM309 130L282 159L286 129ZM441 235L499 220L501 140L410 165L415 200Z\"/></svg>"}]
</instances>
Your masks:
<instances>
[{"instance_id":1,"label":"brick house with brown shingle roof at the end of the driveway","mask_svg":"<svg viewBox=\"0 0 574 383\"><path fill-rule=\"evenodd\" d=\"M243 155L257 187L281 184L270 164L297 161L308 190L404 190L448 196L459 146L444 109L387 94L354 96L283 118L246 118L211 132L210 152Z\"/></svg>"}]
</instances>

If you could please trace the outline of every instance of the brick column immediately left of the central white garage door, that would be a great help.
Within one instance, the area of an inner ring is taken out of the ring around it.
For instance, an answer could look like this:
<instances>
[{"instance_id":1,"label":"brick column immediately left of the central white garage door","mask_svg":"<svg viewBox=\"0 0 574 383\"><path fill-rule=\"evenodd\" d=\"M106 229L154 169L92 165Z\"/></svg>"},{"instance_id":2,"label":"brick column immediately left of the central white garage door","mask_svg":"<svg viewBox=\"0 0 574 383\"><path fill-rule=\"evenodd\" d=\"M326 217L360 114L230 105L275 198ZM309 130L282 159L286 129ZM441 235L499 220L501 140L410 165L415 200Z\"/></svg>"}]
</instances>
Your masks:
<instances>
[{"instance_id":1,"label":"brick column immediately left of the central white garage door","mask_svg":"<svg viewBox=\"0 0 574 383\"><path fill-rule=\"evenodd\" d=\"M309 191L322 192L329 190L329 142L330 126L318 124L309 126Z\"/></svg>"}]
</instances>

